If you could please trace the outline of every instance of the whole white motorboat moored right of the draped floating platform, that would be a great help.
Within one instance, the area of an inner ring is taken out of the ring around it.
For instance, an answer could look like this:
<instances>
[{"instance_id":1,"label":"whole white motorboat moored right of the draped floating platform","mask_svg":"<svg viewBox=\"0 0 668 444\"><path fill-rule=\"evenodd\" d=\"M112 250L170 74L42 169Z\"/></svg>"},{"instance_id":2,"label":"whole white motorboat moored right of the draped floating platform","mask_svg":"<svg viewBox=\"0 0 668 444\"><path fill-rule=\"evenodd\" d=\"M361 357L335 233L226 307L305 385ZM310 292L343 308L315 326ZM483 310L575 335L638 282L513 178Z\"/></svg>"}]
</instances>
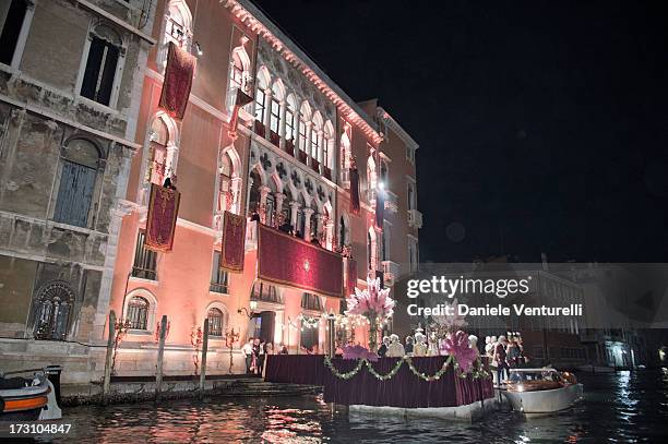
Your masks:
<instances>
[{"instance_id":1,"label":"whole white motorboat moored right of the draped floating platform","mask_svg":"<svg viewBox=\"0 0 668 444\"><path fill-rule=\"evenodd\" d=\"M554 369L511 369L503 395L523 413L553 413L582 399L582 384Z\"/></svg>"}]
</instances>

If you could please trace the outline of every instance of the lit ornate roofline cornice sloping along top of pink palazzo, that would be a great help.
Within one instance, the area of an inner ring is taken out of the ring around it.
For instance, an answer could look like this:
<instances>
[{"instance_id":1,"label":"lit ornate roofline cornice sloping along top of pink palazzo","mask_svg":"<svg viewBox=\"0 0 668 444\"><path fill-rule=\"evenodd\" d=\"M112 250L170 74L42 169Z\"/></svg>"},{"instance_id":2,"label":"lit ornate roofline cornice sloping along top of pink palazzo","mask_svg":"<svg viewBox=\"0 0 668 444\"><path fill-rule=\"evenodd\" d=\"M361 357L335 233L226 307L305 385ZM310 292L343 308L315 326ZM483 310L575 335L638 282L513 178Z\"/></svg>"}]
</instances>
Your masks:
<instances>
[{"instance_id":1,"label":"lit ornate roofline cornice sloping along top of pink palazzo","mask_svg":"<svg viewBox=\"0 0 668 444\"><path fill-rule=\"evenodd\" d=\"M373 120L258 7L250 0L220 0L220 3L241 23L265 38L276 52L298 69L336 106L346 120L360 128L375 144L381 142L382 137Z\"/></svg>"}]
</instances>

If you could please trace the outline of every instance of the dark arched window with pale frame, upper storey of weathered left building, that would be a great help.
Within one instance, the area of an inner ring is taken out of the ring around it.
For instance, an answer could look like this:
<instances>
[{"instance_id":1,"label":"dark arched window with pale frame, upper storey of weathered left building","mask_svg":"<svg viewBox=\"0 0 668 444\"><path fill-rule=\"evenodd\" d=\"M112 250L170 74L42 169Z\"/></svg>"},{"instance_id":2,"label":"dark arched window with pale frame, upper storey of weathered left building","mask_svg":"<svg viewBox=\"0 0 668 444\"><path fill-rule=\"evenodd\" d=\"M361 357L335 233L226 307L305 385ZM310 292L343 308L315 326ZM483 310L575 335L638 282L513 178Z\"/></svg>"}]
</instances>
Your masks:
<instances>
[{"instance_id":1,"label":"dark arched window with pale frame, upper storey of weathered left building","mask_svg":"<svg viewBox=\"0 0 668 444\"><path fill-rule=\"evenodd\" d=\"M87 51L84 51L86 65L81 79L79 94L98 104L116 106L120 85L122 39L110 26L99 24L88 35Z\"/></svg>"}]
</instances>

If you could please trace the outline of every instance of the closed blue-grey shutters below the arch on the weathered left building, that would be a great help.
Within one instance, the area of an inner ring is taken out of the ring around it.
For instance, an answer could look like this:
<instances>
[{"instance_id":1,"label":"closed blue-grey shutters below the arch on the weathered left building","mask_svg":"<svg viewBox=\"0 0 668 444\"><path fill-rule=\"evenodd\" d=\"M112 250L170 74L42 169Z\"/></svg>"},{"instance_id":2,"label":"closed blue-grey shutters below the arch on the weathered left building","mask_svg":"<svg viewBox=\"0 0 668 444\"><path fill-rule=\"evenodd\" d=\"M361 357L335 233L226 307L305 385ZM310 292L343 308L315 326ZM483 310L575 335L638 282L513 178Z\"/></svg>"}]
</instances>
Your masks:
<instances>
[{"instance_id":1,"label":"closed blue-grey shutters below the arch on the weathered left building","mask_svg":"<svg viewBox=\"0 0 668 444\"><path fill-rule=\"evenodd\" d=\"M96 170L64 160L53 220L86 227L93 201Z\"/></svg>"}]
</instances>

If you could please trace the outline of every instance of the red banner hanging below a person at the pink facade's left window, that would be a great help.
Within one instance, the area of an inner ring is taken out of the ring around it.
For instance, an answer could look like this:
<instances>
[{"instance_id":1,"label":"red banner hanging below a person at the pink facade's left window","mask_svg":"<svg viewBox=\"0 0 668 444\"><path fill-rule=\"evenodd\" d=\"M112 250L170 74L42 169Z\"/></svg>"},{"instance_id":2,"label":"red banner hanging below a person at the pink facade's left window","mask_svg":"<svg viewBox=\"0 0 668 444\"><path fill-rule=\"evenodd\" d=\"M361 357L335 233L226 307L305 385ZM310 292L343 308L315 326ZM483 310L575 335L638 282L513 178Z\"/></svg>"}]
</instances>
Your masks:
<instances>
[{"instance_id":1,"label":"red banner hanging below a person at the pink facade's left window","mask_svg":"<svg viewBox=\"0 0 668 444\"><path fill-rule=\"evenodd\" d=\"M174 189L151 184L144 245L154 251L171 251L181 194Z\"/></svg>"}]
</instances>

